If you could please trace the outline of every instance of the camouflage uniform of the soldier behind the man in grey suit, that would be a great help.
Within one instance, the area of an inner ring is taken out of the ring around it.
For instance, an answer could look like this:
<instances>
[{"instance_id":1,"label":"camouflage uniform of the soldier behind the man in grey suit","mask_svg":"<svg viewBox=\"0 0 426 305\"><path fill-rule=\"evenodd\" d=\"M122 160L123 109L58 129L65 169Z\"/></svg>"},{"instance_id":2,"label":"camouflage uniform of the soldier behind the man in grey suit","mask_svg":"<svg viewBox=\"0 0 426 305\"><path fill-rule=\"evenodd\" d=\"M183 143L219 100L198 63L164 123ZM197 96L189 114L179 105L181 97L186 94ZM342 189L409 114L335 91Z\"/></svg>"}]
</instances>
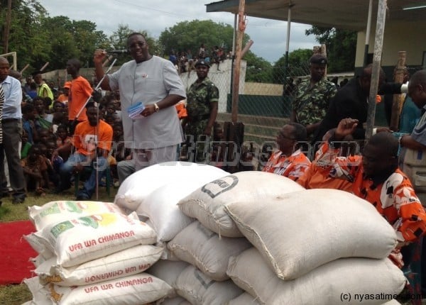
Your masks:
<instances>
[{"instance_id":1,"label":"camouflage uniform of the soldier behind the man in grey suit","mask_svg":"<svg viewBox=\"0 0 426 305\"><path fill-rule=\"evenodd\" d=\"M210 118L210 106L214 102L219 102L219 89L206 77L202 82L194 82L187 91L187 124L185 125L185 135L192 135L194 141L199 140ZM210 135L208 135L210 136ZM189 137L190 138L190 137ZM192 143L187 143L190 148ZM204 150L207 147L197 144L197 161L204 160Z\"/></svg>"}]
</instances>

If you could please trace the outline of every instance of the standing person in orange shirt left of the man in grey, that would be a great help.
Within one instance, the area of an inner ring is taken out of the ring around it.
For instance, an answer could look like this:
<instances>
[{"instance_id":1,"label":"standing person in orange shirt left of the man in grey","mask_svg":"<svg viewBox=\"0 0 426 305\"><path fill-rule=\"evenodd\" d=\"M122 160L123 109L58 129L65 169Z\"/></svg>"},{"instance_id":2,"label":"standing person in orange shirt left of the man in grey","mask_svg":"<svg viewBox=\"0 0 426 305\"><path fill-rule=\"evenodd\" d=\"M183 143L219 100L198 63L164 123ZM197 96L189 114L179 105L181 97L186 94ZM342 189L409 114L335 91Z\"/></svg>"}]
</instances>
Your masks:
<instances>
[{"instance_id":1,"label":"standing person in orange shirt left of the man in grey","mask_svg":"<svg viewBox=\"0 0 426 305\"><path fill-rule=\"evenodd\" d=\"M67 73L71 75L71 87L68 95L68 120L70 134L74 134L77 123L87 120L84 104L92 96L92 86L80 75L80 60L73 58L67 61ZM79 114L80 113L80 114Z\"/></svg>"}]
</instances>

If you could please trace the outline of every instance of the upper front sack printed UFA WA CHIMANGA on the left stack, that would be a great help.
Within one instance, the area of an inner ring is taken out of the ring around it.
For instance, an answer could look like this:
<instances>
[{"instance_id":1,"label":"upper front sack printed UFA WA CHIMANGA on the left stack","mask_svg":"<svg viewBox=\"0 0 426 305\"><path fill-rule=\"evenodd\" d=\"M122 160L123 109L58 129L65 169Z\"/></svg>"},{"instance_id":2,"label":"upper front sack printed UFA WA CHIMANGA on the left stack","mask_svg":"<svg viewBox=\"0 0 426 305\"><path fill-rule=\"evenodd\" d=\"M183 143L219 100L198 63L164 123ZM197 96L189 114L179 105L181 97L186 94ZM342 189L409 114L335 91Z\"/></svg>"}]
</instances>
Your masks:
<instances>
[{"instance_id":1,"label":"upper front sack printed UFA WA CHIMANGA on the left stack","mask_svg":"<svg viewBox=\"0 0 426 305\"><path fill-rule=\"evenodd\" d=\"M136 213L104 213L51 223L25 238L38 253L40 248L53 253L55 265L71 267L134 245L152 245L156 235Z\"/></svg>"}]
</instances>

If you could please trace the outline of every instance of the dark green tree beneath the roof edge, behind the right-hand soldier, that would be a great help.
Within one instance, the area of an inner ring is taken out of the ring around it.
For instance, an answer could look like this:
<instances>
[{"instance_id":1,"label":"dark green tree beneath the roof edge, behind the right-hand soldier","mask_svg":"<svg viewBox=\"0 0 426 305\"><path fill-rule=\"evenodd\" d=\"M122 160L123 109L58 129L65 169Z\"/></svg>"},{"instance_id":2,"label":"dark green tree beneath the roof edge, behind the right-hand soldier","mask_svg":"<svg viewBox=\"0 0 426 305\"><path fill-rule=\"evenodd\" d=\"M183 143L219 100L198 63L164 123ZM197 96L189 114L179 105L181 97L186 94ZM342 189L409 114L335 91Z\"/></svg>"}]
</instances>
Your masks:
<instances>
[{"instance_id":1,"label":"dark green tree beneath the roof edge, behind the right-hand soldier","mask_svg":"<svg viewBox=\"0 0 426 305\"><path fill-rule=\"evenodd\" d=\"M356 54L356 32L339 28L312 26L306 35L315 35L319 43L327 47L329 72L354 70Z\"/></svg>"}]
</instances>

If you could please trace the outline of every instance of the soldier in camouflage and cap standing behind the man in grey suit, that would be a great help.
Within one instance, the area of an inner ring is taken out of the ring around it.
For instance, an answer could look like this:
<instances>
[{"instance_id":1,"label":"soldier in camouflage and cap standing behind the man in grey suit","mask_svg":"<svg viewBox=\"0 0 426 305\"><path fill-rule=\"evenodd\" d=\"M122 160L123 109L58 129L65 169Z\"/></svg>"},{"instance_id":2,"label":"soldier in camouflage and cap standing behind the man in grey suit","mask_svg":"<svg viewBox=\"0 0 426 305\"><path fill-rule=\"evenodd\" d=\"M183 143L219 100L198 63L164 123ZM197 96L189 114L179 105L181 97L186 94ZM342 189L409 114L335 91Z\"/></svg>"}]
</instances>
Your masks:
<instances>
[{"instance_id":1,"label":"soldier in camouflage and cap standing behind the man in grey suit","mask_svg":"<svg viewBox=\"0 0 426 305\"><path fill-rule=\"evenodd\" d=\"M206 160L207 139L212 135L217 116L219 89L207 77L209 68L208 62L198 60L195 63L198 79L187 90L187 118L182 127L187 136L188 152L195 150L195 160L190 156L189 161Z\"/></svg>"}]
</instances>

